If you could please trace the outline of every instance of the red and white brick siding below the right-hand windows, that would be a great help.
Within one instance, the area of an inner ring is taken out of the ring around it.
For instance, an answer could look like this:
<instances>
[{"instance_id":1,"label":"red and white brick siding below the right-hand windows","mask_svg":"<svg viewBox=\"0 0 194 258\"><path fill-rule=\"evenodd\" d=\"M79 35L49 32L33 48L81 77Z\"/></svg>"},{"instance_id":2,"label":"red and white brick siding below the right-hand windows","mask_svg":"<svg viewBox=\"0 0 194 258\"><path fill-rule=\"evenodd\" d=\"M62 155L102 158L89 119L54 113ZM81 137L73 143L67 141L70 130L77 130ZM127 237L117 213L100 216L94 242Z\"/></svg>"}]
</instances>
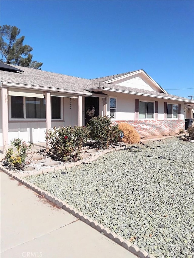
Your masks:
<instances>
[{"instance_id":1,"label":"red and white brick siding below the right-hand windows","mask_svg":"<svg viewBox=\"0 0 194 258\"><path fill-rule=\"evenodd\" d=\"M116 120L112 125L128 123L134 126L140 136L154 136L160 134L179 133L185 129L185 120Z\"/></svg>"}]
</instances>

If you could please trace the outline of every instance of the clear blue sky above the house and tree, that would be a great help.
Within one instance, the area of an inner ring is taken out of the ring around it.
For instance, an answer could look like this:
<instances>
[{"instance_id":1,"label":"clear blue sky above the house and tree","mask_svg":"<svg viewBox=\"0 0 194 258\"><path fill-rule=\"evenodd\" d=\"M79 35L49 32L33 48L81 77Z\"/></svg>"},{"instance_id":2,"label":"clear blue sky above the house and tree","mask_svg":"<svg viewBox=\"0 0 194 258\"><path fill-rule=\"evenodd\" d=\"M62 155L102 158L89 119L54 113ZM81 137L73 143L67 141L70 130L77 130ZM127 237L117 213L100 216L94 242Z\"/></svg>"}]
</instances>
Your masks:
<instances>
[{"instance_id":1,"label":"clear blue sky above the house and tree","mask_svg":"<svg viewBox=\"0 0 194 258\"><path fill-rule=\"evenodd\" d=\"M90 79L143 69L170 94L188 97L193 8L193 1L3 0L1 25L21 29L42 70Z\"/></svg>"}]
</instances>

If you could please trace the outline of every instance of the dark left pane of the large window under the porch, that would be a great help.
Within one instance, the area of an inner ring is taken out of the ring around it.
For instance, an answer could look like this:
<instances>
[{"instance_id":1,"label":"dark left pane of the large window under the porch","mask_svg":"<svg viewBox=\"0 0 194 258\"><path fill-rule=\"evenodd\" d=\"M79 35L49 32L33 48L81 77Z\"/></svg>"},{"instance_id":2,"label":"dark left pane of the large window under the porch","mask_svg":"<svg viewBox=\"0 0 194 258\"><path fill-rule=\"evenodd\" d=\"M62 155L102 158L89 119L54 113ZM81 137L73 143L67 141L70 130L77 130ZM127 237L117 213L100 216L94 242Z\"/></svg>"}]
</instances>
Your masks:
<instances>
[{"instance_id":1,"label":"dark left pane of the large window under the porch","mask_svg":"<svg viewBox=\"0 0 194 258\"><path fill-rule=\"evenodd\" d=\"M11 96L12 118L24 118L23 97Z\"/></svg>"}]
</instances>

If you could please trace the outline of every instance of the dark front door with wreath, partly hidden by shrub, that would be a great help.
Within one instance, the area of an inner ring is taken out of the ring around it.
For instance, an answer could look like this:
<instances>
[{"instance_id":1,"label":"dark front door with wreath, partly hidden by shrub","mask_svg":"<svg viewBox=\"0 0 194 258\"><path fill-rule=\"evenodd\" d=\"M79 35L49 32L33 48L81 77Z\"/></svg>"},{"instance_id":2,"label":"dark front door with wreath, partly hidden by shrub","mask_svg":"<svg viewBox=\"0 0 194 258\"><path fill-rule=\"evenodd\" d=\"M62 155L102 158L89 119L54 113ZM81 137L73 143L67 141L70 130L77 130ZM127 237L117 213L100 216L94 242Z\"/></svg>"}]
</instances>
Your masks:
<instances>
[{"instance_id":1,"label":"dark front door with wreath, partly hidden by shrub","mask_svg":"<svg viewBox=\"0 0 194 258\"><path fill-rule=\"evenodd\" d=\"M85 97L85 126L93 116L99 116L99 98Z\"/></svg>"}]
</instances>

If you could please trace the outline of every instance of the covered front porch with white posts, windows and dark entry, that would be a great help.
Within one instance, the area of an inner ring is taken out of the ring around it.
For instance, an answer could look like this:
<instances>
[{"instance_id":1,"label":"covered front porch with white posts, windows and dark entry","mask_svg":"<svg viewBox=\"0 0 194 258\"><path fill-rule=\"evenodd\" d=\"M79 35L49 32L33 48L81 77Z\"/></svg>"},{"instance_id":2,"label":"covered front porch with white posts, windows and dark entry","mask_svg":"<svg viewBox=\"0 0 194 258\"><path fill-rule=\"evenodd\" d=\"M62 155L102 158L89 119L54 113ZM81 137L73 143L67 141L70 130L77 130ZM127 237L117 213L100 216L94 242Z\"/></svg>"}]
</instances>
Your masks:
<instances>
[{"instance_id":1,"label":"covered front porch with white posts, windows and dark entry","mask_svg":"<svg viewBox=\"0 0 194 258\"><path fill-rule=\"evenodd\" d=\"M3 86L0 107L0 152L5 153L15 138L38 144L45 142L45 133L53 127L85 126L88 121L87 103L92 100L98 103L95 116L105 116L107 113L105 94L72 93L53 89L52 92L29 90L21 85L15 88ZM48 147L48 143L45 144L45 147Z\"/></svg>"}]
</instances>

